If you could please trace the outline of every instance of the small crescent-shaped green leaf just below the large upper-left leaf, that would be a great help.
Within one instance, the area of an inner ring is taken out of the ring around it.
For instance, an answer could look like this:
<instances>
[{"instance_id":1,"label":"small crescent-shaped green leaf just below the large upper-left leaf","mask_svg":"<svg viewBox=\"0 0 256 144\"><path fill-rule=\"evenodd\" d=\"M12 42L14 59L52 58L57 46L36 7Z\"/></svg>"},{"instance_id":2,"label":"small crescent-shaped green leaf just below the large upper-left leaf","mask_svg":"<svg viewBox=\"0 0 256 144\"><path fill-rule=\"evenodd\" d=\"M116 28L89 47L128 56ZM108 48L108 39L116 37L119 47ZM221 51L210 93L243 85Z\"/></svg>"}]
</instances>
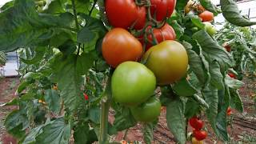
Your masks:
<instances>
[{"instance_id":1,"label":"small crescent-shaped green leaf just below the large upper-left leaf","mask_svg":"<svg viewBox=\"0 0 256 144\"><path fill-rule=\"evenodd\" d=\"M35 48L35 55L34 55L34 58L32 59L24 59L24 58L21 58L20 59L22 60L22 62L28 64L28 65L32 65L32 64L35 64L35 63L38 63L42 60L44 54L46 53L46 47L42 46L42 47L37 47Z\"/></svg>"}]
</instances>

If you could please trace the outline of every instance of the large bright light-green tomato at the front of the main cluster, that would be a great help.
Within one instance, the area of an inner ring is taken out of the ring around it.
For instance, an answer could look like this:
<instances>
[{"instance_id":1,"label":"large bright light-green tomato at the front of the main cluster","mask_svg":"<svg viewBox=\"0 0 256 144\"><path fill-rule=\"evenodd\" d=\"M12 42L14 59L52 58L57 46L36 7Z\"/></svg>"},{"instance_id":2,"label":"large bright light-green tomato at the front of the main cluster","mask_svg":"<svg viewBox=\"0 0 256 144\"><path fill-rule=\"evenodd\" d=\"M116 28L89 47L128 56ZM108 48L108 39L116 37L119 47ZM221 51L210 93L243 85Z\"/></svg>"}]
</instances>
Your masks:
<instances>
[{"instance_id":1,"label":"large bright light-green tomato at the front of the main cluster","mask_svg":"<svg viewBox=\"0 0 256 144\"><path fill-rule=\"evenodd\" d=\"M156 87L152 71L138 62L122 62L111 79L111 89L115 102L125 106L137 106L146 102Z\"/></svg>"}]
</instances>

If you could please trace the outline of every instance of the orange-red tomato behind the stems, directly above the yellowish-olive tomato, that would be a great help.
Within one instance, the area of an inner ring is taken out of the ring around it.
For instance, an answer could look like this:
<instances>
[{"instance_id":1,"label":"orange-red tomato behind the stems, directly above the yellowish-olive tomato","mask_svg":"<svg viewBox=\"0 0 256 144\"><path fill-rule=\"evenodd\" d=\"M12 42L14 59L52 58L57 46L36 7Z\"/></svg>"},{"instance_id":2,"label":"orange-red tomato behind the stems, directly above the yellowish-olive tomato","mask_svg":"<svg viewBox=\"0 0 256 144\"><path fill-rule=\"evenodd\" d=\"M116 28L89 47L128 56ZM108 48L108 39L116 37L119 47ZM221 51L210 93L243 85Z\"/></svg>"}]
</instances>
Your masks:
<instances>
[{"instance_id":1,"label":"orange-red tomato behind the stems, directly above the yellowish-olive tomato","mask_svg":"<svg viewBox=\"0 0 256 144\"><path fill-rule=\"evenodd\" d=\"M168 23L166 23L160 29L154 28L153 34L150 33L150 28L151 27L148 27L146 30L146 33L148 35L147 39L149 41L146 43L146 50L148 50L152 46L151 43L154 43L153 42L153 34L158 43L163 42L165 40L174 40L176 38L176 34L175 34L173 27L170 26Z\"/></svg>"}]
</instances>

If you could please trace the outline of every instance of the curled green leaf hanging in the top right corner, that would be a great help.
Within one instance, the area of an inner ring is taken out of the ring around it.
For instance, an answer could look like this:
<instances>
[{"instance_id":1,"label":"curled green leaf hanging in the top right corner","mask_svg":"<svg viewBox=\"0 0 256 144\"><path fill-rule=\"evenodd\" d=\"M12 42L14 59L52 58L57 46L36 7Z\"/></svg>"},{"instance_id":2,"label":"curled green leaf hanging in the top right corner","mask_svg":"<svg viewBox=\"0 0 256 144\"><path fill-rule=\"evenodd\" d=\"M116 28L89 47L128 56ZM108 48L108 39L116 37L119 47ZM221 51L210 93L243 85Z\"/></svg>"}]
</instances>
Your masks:
<instances>
[{"instance_id":1,"label":"curled green leaf hanging in the top right corner","mask_svg":"<svg viewBox=\"0 0 256 144\"><path fill-rule=\"evenodd\" d=\"M236 26L252 26L256 22L243 18L234 0L220 0L222 14L226 20Z\"/></svg>"}]
</instances>

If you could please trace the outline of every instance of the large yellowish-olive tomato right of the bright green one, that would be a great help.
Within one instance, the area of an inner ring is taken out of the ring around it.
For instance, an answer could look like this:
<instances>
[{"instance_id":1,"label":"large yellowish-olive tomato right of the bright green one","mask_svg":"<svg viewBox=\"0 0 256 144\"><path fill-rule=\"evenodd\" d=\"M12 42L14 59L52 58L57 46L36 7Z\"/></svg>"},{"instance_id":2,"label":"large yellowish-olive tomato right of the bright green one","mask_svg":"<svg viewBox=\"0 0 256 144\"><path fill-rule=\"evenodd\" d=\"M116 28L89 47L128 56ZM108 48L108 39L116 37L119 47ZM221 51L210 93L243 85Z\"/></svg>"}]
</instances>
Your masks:
<instances>
[{"instance_id":1,"label":"large yellowish-olive tomato right of the bright green one","mask_svg":"<svg viewBox=\"0 0 256 144\"><path fill-rule=\"evenodd\" d=\"M186 49L179 42L172 40L152 46L142 60L153 71L159 85L167 85L182 78L188 66Z\"/></svg>"}]
</instances>

